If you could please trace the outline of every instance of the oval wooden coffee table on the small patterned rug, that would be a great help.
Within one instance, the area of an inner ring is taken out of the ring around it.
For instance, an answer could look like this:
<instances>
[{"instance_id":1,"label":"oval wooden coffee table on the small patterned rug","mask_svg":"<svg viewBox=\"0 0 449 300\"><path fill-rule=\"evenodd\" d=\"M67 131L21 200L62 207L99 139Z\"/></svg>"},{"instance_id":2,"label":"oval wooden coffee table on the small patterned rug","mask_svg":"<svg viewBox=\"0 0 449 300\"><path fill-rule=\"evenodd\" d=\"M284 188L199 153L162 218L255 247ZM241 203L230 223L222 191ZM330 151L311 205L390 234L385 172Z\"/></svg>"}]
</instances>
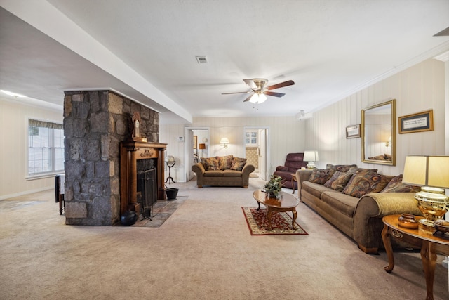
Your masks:
<instances>
[{"instance_id":1,"label":"oval wooden coffee table on the small patterned rug","mask_svg":"<svg viewBox=\"0 0 449 300\"><path fill-rule=\"evenodd\" d=\"M260 204L264 204L267 207L267 219L268 219L268 230L272 230L272 216L274 211L283 212L283 211L291 211L293 213L292 218L292 228L296 230L295 220L297 218L296 207L300 202L295 198L295 196L290 195L288 193L281 192L282 198L281 200L277 200L274 198L267 198L267 193L262 190L255 190L253 193L254 199L257 201L260 209Z\"/></svg>"}]
</instances>

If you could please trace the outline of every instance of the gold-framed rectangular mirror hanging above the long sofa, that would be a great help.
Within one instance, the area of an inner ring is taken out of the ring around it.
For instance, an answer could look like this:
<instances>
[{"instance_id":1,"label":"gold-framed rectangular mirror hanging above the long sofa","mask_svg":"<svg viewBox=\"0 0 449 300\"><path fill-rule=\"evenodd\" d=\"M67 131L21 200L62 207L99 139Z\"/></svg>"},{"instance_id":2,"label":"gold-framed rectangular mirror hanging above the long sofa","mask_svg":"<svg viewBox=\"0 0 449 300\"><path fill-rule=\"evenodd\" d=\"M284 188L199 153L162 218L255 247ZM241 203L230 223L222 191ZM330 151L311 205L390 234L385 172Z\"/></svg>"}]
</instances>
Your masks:
<instances>
[{"instance_id":1,"label":"gold-framed rectangular mirror hanging above the long sofa","mask_svg":"<svg viewBox=\"0 0 449 300\"><path fill-rule=\"evenodd\" d=\"M396 100L362 110L362 162L396 165Z\"/></svg>"}]
</instances>

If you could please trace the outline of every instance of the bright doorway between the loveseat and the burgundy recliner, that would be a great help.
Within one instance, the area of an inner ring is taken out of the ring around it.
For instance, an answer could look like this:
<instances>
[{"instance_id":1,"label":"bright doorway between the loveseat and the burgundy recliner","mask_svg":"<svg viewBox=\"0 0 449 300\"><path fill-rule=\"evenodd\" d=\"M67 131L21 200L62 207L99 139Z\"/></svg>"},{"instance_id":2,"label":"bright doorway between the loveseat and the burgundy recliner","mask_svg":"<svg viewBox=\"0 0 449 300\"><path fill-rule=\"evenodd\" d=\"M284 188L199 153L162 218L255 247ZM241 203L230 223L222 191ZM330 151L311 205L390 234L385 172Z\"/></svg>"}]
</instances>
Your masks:
<instances>
[{"instance_id":1,"label":"bright doorway between the loveseat and the burgundy recliner","mask_svg":"<svg viewBox=\"0 0 449 300\"><path fill-rule=\"evenodd\" d=\"M243 145L247 162L255 167L254 174L266 181L269 178L269 127L243 127Z\"/></svg>"}]
</instances>

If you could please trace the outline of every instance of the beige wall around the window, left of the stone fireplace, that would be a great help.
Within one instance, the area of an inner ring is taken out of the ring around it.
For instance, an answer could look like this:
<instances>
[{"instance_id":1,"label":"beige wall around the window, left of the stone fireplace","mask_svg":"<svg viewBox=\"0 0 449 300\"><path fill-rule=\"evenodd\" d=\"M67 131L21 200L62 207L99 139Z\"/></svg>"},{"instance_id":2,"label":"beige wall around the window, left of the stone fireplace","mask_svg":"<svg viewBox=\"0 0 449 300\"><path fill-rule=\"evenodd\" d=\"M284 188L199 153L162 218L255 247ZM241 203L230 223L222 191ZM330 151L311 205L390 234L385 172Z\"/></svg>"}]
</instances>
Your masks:
<instances>
[{"instance_id":1,"label":"beige wall around the window, left of the stone fireplace","mask_svg":"<svg viewBox=\"0 0 449 300\"><path fill-rule=\"evenodd\" d=\"M53 176L27 180L28 119L62 123L60 111L21 105L0 98L0 199L48 190Z\"/></svg>"}]
</instances>

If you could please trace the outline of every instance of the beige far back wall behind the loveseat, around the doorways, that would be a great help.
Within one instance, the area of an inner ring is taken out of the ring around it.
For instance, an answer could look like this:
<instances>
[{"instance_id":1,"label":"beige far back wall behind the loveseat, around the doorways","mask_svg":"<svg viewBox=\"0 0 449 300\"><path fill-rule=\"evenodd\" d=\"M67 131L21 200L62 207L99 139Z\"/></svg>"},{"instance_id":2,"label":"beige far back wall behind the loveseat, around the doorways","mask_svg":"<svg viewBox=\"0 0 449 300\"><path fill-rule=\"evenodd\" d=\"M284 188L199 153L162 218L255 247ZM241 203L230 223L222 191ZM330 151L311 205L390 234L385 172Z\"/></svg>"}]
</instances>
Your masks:
<instances>
[{"instance_id":1,"label":"beige far back wall behind the loveseat, around the doorways","mask_svg":"<svg viewBox=\"0 0 449 300\"><path fill-rule=\"evenodd\" d=\"M177 141L178 136L184 136L185 126L208 127L209 156L232 154L237 157L245 157L243 141L245 126L269 127L268 168L271 168L270 174L276 166L283 165L289 152L307 150L304 144L304 121L298 121L295 117L199 117L194 118L194 122L188 125L160 125L159 141L168 143L167 152L177 159L175 167L171 169L171 175L175 181L185 181L185 142ZM227 149L220 146L222 137L229 138L230 143Z\"/></svg>"}]
</instances>

